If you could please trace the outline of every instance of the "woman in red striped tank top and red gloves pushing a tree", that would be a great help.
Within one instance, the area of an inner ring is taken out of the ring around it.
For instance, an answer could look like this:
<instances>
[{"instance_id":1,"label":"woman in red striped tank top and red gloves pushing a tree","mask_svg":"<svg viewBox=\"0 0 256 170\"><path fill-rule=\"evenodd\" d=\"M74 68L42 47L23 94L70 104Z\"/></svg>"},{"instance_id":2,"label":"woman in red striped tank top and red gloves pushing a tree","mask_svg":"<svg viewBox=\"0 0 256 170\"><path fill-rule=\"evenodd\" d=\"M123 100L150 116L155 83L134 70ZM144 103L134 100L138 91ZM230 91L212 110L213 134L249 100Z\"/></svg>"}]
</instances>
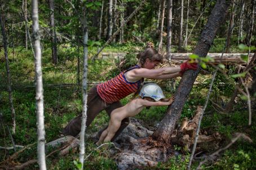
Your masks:
<instances>
[{"instance_id":1,"label":"woman in red striped tank top and red gloves pushing a tree","mask_svg":"<svg viewBox=\"0 0 256 170\"><path fill-rule=\"evenodd\" d=\"M111 112L122 107L120 99L140 90L140 85L144 78L147 79L171 79L181 76L187 69L197 69L197 64L188 62L182 63L179 67L163 67L155 68L162 62L162 56L153 48L147 48L139 53L139 63L126 71L121 72L113 79L93 86L88 91L87 97L87 121L86 126L90 126L94 118L103 110L110 117ZM81 116L73 118L64 128L64 135L77 136L81 131ZM129 118L125 118L121 122L121 126L112 138L112 141L129 125Z\"/></svg>"}]
</instances>

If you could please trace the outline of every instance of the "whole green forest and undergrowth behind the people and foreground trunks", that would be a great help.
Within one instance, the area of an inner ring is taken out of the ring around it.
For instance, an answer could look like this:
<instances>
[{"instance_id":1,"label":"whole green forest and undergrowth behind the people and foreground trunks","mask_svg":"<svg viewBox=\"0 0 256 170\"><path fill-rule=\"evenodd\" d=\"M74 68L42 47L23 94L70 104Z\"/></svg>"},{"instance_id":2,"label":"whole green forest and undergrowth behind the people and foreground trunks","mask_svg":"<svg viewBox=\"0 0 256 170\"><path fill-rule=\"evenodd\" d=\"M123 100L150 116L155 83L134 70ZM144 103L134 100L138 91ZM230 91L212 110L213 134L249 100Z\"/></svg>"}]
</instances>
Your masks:
<instances>
[{"instance_id":1,"label":"whole green forest and undergrowth behind the people and foreground trunks","mask_svg":"<svg viewBox=\"0 0 256 170\"><path fill-rule=\"evenodd\" d=\"M91 85L109 80L121 70L134 65L137 62L136 53L147 45L155 45L165 57L168 50L171 53L193 53L216 1L171 2L170 27L170 20L167 17L170 9L167 4L170 4L170 1L38 1L46 142L58 139L63 127L82 112L81 63L84 45L83 24L85 24L83 18L86 16L89 33L87 84L90 88ZM220 25L209 53L254 53L255 3L254 0L231 1L226 20ZM134 13L136 9L138 11ZM2 35L3 33L6 35L6 40L1 36L0 146L5 149L0 153L0 162L5 166L4 160L17 151L6 149L8 146L14 144L27 146L37 141L31 11L32 1L1 1L1 29ZM133 17L129 18L131 15ZM112 35L117 31L119 33L113 37ZM170 31L171 36L169 36ZM111 42L108 42L109 39ZM169 44L168 40L170 40ZM8 49L7 59L5 44ZM103 45L106 47L96 55ZM108 56L107 59L103 59L103 54ZM224 62L218 65L223 71L218 72L215 77L201 129L208 134L218 132L222 140L216 147L205 144L205 154L213 153L214 150L228 144L235 132L243 132L253 141L256 139L255 114L251 114L252 123L248 125L249 108L255 113L256 73L254 68L242 74L238 73L246 67L248 59L250 58L241 56L239 62ZM169 63L166 59L162 66L170 64L179 65L179 63ZM210 65L205 67L204 63L201 63L201 66L204 69L197 77L197 84L193 86L184 104L178 124L185 117L193 117L197 105L204 105L207 98L215 67ZM236 95L235 104L232 104L227 111L227 105L232 100L236 85L241 81L240 77L244 79L244 83L240 84L244 93ZM157 81L157 84L161 85L165 95L169 97L175 93L179 80ZM251 98L249 106L246 89L249 90ZM129 102L129 99L130 97L122 99L122 104ZM153 107L135 118L141 121L143 126L156 130L165 113L166 107ZM106 113L101 113L87 129L86 134L99 131L107 125L108 119ZM92 151L92 155L85 161L85 169L117 168L115 159L109 155L108 149L95 148L93 141L86 141L86 154ZM174 150L176 155L169 157L166 162L159 162L155 168L186 169L190 151L184 149L183 145L174 145ZM35 153L34 144L8 162L8 166L14 167L36 159ZM256 164L253 162L256 159L255 155L255 143L239 140L224 151L222 157L202 168L255 169ZM65 157L51 155L47 157L46 164L48 169L74 169L76 165L73 160L77 160L78 157L79 153L76 151ZM196 167L199 162L195 161L193 166ZM26 168L38 169L38 164L31 164Z\"/></svg>"}]
</instances>

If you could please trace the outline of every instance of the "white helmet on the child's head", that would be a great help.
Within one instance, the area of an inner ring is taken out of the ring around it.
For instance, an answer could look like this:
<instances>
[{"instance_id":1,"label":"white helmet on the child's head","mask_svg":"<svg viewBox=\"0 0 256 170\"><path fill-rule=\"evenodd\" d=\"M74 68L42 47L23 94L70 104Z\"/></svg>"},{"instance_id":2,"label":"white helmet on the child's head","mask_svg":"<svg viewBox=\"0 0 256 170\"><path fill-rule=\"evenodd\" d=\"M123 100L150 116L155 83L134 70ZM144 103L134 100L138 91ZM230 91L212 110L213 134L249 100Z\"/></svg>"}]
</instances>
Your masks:
<instances>
[{"instance_id":1,"label":"white helmet on the child's head","mask_svg":"<svg viewBox=\"0 0 256 170\"><path fill-rule=\"evenodd\" d=\"M148 83L142 86L142 90L139 93L140 97L149 97L154 99L156 102L160 99L164 99L165 96L162 93L162 89L155 83Z\"/></svg>"}]
</instances>

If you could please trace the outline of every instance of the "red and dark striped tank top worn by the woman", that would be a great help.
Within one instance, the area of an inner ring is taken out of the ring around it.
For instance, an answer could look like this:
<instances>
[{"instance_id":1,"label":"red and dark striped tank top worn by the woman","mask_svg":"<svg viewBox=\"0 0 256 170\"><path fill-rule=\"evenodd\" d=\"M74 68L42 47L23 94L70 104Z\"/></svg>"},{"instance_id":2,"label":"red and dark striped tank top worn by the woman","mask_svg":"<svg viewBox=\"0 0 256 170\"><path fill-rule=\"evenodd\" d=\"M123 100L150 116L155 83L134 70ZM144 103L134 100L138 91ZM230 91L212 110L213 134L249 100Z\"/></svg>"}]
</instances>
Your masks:
<instances>
[{"instance_id":1,"label":"red and dark striped tank top worn by the woman","mask_svg":"<svg viewBox=\"0 0 256 170\"><path fill-rule=\"evenodd\" d=\"M131 93L134 93L140 88L143 79L136 82L129 82L125 78L125 73L127 71L133 70L134 68L140 68L140 66L135 65L126 71L121 72L118 76L114 77L107 82L103 82L97 86L97 92L101 99L106 103L117 102L122 98L127 97Z\"/></svg>"}]
</instances>

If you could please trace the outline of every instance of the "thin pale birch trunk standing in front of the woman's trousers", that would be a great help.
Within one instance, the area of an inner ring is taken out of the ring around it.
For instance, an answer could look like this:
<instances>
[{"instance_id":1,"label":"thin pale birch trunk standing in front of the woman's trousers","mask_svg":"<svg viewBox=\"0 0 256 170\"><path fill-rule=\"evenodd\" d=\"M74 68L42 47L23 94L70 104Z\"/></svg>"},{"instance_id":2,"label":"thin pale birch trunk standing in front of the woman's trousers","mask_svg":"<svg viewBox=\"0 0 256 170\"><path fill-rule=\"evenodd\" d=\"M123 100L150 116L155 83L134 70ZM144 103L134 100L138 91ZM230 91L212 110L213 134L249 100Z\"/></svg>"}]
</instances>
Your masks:
<instances>
[{"instance_id":1,"label":"thin pale birch trunk standing in front of the woman's trousers","mask_svg":"<svg viewBox=\"0 0 256 170\"><path fill-rule=\"evenodd\" d=\"M86 21L86 8L83 8L83 79L82 79L82 93L83 93L83 110L82 110L82 125L80 133L80 162L82 163L85 157L85 130L86 130L86 118L87 118L87 56L88 56L88 30Z\"/></svg>"}]
</instances>

